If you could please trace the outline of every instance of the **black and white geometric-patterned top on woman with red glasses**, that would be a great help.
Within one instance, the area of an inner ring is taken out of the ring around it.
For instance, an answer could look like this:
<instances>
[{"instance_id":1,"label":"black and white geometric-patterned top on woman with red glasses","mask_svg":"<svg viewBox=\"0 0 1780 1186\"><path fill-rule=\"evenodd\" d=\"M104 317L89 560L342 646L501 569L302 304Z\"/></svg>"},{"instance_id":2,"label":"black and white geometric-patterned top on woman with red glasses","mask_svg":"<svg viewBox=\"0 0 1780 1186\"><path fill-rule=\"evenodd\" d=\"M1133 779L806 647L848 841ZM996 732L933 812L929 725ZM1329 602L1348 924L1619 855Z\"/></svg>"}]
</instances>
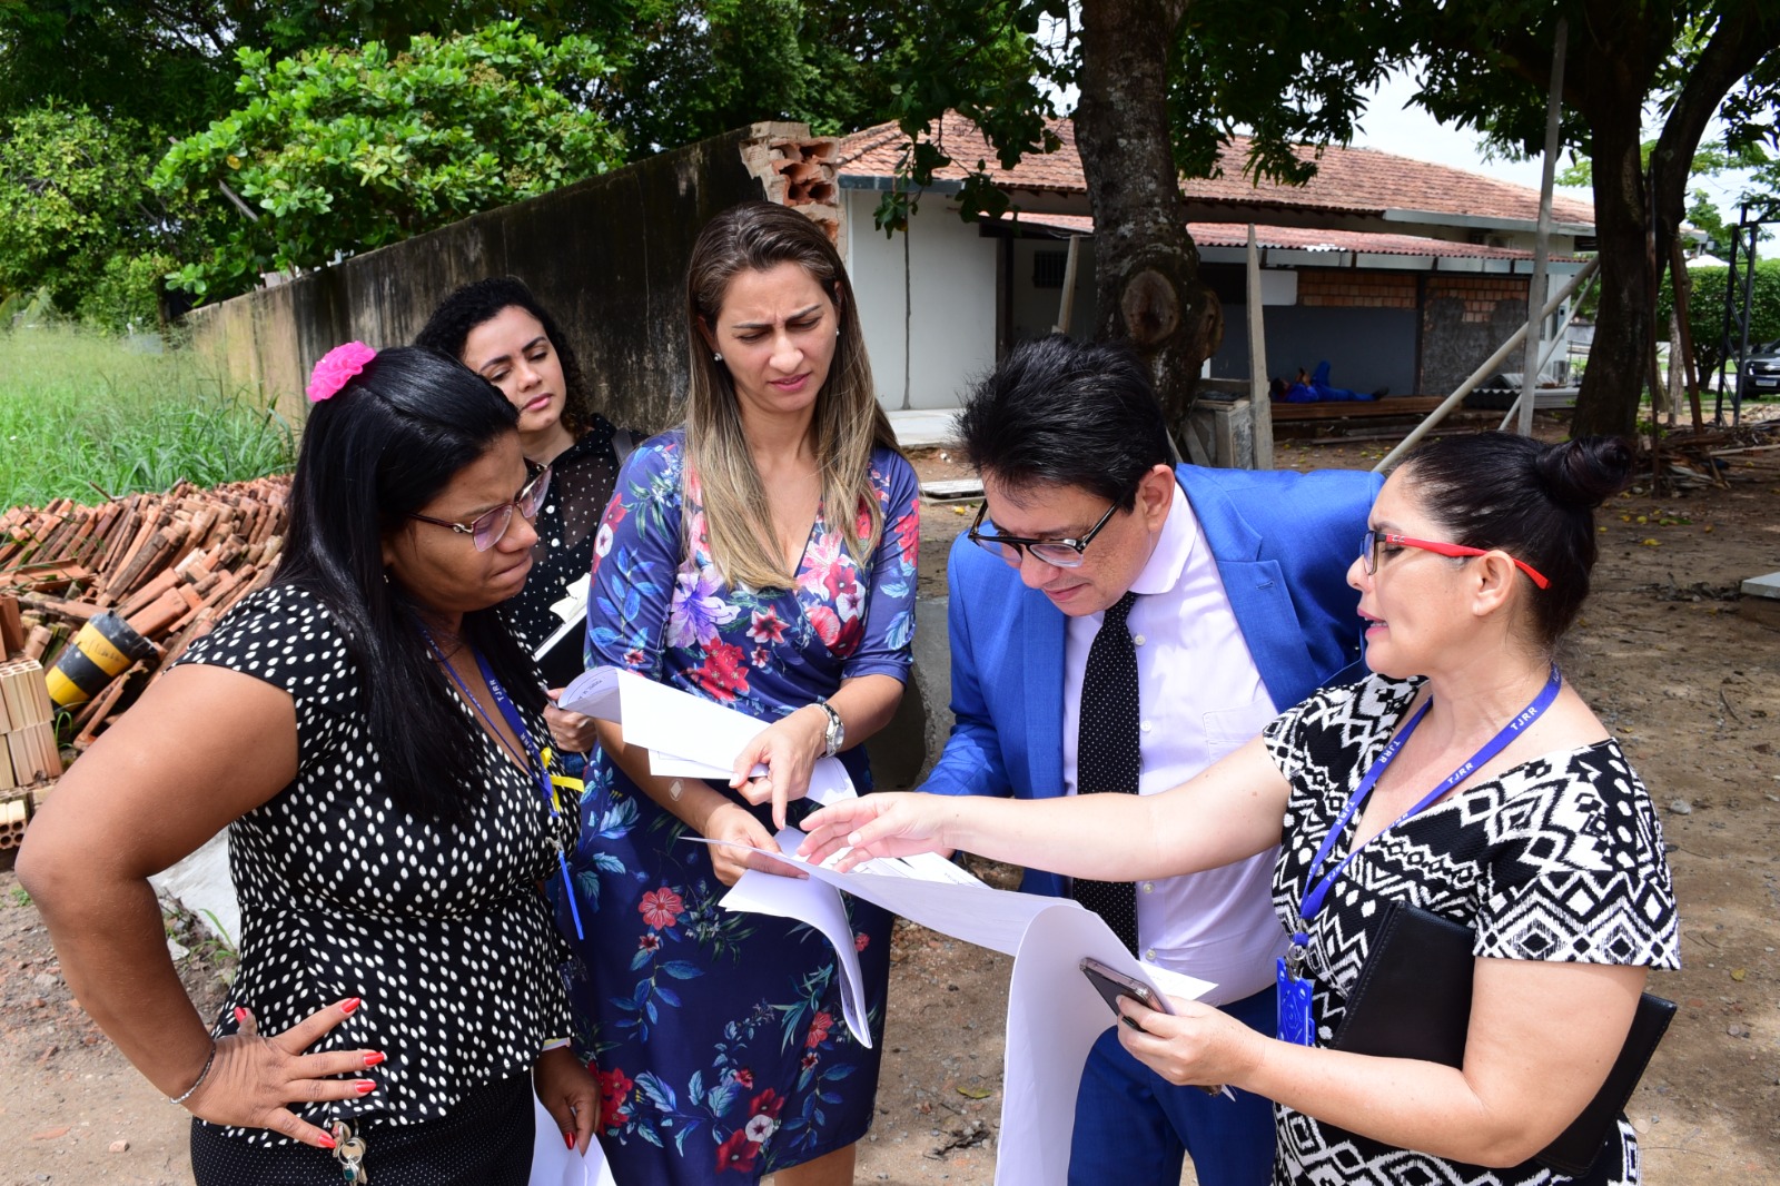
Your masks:
<instances>
[{"instance_id":1,"label":"black and white geometric-patterned top on woman with red glasses","mask_svg":"<svg viewBox=\"0 0 1780 1186\"><path fill-rule=\"evenodd\" d=\"M1292 785L1273 905L1298 926L1317 846L1390 741L1420 680L1372 675L1317 693L1266 730ZM1335 857L1353 848L1360 812ZM1333 864L1333 858L1330 860ZM1616 741L1549 753L1474 782L1371 841L1310 924L1317 1044L1340 1026L1385 906L1406 901L1474 928L1474 954L1679 967L1675 892L1650 794ZM1408 1152L1276 1106L1274 1182L1534 1186L1572 1181L1533 1161L1485 1168ZM1638 1181L1625 1120L1604 1154L1606 1182ZM1614 1159L1618 1159L1614 1163ZM1597 1172L1600 1165L1595 1166Z\"/></svg>"}]
</instances>

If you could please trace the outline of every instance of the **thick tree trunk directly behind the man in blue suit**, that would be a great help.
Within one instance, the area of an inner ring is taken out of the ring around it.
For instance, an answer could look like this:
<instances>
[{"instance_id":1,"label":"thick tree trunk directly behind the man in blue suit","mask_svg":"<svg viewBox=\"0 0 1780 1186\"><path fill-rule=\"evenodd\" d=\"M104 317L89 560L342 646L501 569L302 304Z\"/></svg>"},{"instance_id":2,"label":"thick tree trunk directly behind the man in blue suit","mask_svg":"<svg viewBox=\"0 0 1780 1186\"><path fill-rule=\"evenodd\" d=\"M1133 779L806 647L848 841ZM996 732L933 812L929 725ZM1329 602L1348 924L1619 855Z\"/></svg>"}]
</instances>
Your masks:
<instances>
[{"instance_id":1,"label":"thick tree trunk directly behind the man in blue suit","mask_svg":"<svg viewBox=\"0 0 1780 1186\"><path fill-rule=\"evenodd\" d=\"M1148 363L1177 442L1200 363L1223 340L1223 306L1200 281L1168 130L1168 52L1185 0L1082 5L1075 141L1095 212L1095 337Z\"/></svg>"}]
</instances>

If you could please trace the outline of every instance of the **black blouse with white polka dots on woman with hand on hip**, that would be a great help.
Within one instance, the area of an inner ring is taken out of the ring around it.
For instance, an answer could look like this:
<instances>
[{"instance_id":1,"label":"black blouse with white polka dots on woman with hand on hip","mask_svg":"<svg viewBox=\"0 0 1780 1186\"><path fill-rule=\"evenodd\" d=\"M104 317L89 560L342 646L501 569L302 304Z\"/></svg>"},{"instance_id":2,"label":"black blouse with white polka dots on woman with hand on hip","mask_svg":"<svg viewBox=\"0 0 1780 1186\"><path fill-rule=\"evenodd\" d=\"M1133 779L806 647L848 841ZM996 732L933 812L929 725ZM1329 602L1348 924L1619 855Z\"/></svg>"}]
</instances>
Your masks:
<instances>
[{"instance_id":1,"label":"black blouse with white polka dots on woman with hand on hip","mask_svg":"<svg viewBox=\"0 0 1780 1186\"><path fill-rule=\"evenodd\" d=\"M466 1092L529 1072L543 1042L570 1029L557 974L566 946L538 885L557 874L557 844L573 848L578 812L552 821L538 780L468 705L463 727L481 743L488 798L456 826L395 807L377 791L360 671L320 600L301 589L247 597L180 662L265 680L297 711L295 782L230 825L240 971L215 1036L237 1029L239 1004L260 1033L278 1033L361 997L312 1049L383 1051L388 1061L363 1072L377 1088L361 1101L290 1104L319 1125L434 1120ZM527 727L545 735L532 714Z\"/></svg>"}]
</instances>

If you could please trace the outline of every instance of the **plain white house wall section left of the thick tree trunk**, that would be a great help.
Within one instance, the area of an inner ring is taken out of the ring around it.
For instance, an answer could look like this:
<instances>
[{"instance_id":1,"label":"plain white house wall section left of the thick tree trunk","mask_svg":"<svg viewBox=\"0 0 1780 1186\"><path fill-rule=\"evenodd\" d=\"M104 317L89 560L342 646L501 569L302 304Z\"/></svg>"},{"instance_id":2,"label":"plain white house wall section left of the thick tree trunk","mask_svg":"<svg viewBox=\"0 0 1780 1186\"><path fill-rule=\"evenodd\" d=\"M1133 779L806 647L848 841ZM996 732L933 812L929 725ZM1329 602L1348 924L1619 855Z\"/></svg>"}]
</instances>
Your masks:
<instances>
[{"instance_id":1,"label":"plain white house wall section left of the thick tree trunk","mask_svg":"<svg viewBox=\"0 0 1780 1186\"><path fill-rule=\"evenodd\" d=\"M913 283L904 301L904 239L888 239L872 226L878 198L876 191L842 191L847 274L860 301L878 402L897 410L906 395L910 408L956 408L959 390L995 365L997 240L977 235L974 224L929 194L910 219Z\"/></svg>"}]
</instances>

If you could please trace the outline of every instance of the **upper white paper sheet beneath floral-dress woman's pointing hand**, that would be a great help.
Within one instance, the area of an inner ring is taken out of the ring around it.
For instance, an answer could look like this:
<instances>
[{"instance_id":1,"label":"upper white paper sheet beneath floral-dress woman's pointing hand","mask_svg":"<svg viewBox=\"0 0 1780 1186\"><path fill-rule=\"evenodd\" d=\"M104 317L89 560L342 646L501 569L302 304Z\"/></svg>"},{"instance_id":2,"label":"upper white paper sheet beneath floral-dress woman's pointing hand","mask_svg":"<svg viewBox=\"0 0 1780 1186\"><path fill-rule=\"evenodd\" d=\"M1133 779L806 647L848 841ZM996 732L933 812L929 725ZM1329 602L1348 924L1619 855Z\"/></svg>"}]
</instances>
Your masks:
<instances>
[{"instance_id":1,"label":"upper white paper sheet beneath floral-dress woman's pointing hand","mask_svg":"<svg viewBox=\"0 0 1780 1186\"><path fill-rule=\"evenodd\" d=\"M735 755L771 725L619 668L584 671L562 689L557 705L623 725L625 741L648 750L650 773L662 778L726 784ZM765 775L767 768L756 764L753 773ZM853 796L853 778L840 759L817 759L805 798L828 805Z\"/></svg>"}]
</instances>

